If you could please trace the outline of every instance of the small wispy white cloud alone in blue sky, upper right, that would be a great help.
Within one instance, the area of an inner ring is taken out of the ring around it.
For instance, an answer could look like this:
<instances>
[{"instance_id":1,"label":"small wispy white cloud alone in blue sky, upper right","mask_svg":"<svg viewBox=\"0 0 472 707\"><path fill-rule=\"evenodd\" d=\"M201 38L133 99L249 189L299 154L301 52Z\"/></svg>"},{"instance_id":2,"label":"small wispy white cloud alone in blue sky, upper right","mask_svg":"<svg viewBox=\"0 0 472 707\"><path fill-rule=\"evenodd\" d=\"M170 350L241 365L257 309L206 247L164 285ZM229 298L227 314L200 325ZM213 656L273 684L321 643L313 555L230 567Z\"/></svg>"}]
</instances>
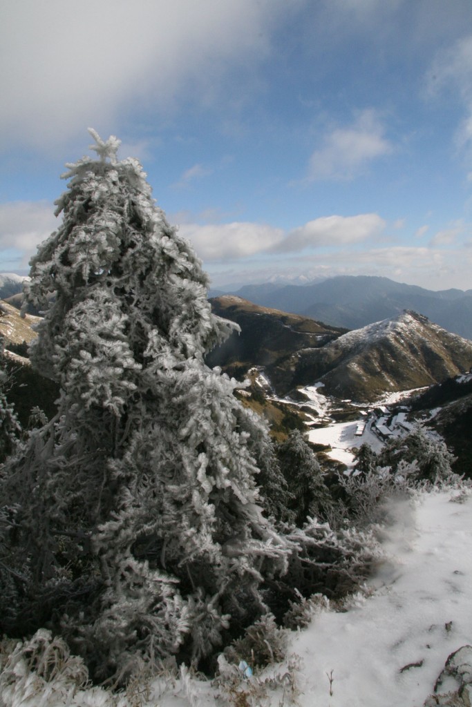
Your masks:
<instances>
[{"instance_id":1,"label":"small wispy white cloud alone in blue sky, upper right","mask_svg":"<svg viewBox=\"0 0 472 707\"><path fill-rule=\"evenodd\" d=\"M393 151L384 133L375 110L360 112L352 125L324 136L321 147L311 155L308 180L350 180L362 173L372 160Z\"/></svg>"}]
</instances>

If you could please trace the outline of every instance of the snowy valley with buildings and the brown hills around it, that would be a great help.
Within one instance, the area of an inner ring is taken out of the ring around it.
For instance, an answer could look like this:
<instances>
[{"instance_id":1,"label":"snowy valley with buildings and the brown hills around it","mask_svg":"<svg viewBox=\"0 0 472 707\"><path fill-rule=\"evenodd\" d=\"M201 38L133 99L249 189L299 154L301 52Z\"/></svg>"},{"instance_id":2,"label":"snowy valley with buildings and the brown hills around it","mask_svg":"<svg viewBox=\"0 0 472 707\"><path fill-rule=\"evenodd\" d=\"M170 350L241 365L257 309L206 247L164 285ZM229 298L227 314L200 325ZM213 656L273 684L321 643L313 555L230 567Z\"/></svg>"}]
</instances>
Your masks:
<instances>
[{"instance_id":1,"label":"snowy valley with buildings and the brown hills around it","mask_svg":"<svg viewBox=\"0 0 472 707\"><path fill-rule=\"evenodd\" d=\"M257 401L275 438L280 425L274 424L273 406L286 424L306 433L325 469L333 464L340 470L352 467L363 444L380 452L388 440L427 423L432 437L444 438L454 450L454 471L472 476L464 423L472 413L472 396L464 396L471 341L410 311L345 332L236 296L212 305L241 332L213 351L209 362L238 380L248 378L241 399L249 407ZM444 406L444 396L434 394L443 386L452 391Z\"/></svg>"}]
</instances>

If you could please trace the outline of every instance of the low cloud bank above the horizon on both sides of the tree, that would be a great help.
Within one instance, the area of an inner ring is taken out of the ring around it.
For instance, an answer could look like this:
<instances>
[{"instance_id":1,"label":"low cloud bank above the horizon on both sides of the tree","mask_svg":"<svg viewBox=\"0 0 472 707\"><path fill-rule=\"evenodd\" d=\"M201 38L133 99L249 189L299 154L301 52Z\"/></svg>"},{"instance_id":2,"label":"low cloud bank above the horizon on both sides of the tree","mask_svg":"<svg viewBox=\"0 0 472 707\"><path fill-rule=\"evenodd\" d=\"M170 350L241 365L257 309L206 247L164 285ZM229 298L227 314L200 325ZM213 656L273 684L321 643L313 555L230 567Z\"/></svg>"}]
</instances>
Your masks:
<instances>
[{"instance_id":1,"label":"low cloud bank above the horizon on both sides of the tree","mask_svg":"<svg viewBox=\"0 0 472 707\"><path fill-rule=\"evenodd\" d=\"M25 271L37 245L59 223L52 204L46 201L0 205L4 269ZM387 230L388 224L378 214L324 216L289 231L237 221L179 227L180 235L192 242L203 259L214 286L277 276L306 281L338 274L379 275L431 289L470 286L472 247L466 223L451 223L434 233L427 245L424 241L422 245L382 245ZM420 235L426 230L426 226L418 229Z\"/></svg>"}]
</instances>

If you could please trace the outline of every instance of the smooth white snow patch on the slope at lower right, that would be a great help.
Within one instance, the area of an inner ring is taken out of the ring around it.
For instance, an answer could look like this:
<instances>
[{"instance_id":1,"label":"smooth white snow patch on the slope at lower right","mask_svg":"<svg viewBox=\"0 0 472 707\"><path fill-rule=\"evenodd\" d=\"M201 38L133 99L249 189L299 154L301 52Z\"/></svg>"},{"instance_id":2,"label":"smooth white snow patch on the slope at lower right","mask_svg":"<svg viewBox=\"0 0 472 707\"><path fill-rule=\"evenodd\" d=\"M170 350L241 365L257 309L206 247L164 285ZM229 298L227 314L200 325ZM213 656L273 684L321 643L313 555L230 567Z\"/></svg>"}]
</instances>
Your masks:
<instances>
[{"instance_id":1,"label":"smooth white snow patch on the slope at lower right","mask_svg":"<svg viewBox=\"0 0 472 707\"><path fill-rule=\"evenodd\" d=\"M379 568L376 594L347 614L321 614L294 637L304 660L301 707L420 707L448 656L472 643L472 496L464 504L450 497L398 506L385 542L392 562Z\"/></svg>"}]
</instances>

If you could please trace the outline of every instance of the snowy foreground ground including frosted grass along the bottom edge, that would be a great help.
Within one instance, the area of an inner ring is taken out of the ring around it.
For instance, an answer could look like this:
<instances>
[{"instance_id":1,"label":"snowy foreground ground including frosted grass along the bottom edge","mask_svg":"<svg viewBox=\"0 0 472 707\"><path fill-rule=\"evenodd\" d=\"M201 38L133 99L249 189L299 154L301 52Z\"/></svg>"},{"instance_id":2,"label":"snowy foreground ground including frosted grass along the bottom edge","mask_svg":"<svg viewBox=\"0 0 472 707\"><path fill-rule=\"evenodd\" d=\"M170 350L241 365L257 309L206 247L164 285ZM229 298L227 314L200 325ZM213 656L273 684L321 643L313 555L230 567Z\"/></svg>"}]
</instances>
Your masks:
<instances>
[{"instance_id":1,"label":"snowy foreground ground including frosted grass along the bottom edge","mask_svg":"<svg viewBox=\"0 0 472 707\"><path fill-rule=\"evenodd\" d=\"M379 564L369 583L372 594L353 597L347 612L323 609L307 629L289 634L287 659L277 672L283 675L289 662L298 662L299 707L420 707L448 656L472 643L471 491L423 492L413 501L397 502L390 511L394 520L383 537L389 559ZM249 681L241 678L238 691L260 691L271 673L273 669L267 669ZM57 682L56 689L41 686L41 681L28 679L20 665L18 689L13 683L13 676L4 681L2 707L290 704L288 692L270 686L252 702L238 702L237 693L226 693L215 702L220 689L195 681L186 670L177 679L161 677L138 685L138 701L136 693L134 698L113 698L98 688L67 688L67 681L62 687Z\"/></svg>"}]
</instances>

